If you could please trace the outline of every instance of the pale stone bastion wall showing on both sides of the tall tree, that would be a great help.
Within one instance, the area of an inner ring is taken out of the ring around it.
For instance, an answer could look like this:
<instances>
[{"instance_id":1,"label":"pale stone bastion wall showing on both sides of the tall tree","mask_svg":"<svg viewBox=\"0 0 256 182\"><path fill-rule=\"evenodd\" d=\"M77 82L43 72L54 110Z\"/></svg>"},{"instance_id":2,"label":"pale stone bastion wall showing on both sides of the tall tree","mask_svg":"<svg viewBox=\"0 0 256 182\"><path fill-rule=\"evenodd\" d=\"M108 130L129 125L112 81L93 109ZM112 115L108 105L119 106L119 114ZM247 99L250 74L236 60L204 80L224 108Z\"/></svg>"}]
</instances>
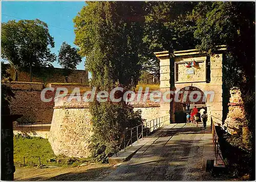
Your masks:
<instances>
[{"instance_id":1,"label":"pale stone bastion wall showing on both sides of the tall tree","mask_svg":"<svg viewBox=\"0 0 256 182\"><path fill-rule=\"evenodd\" d=\"M55 102L49 142L56 155L65 154L69 157L88 157L89 142L93 134L91 115L88 102L79 102L73 98L68 102L68 96L59 97ZM134 111L141 110L141 116L146 121L159 117L159 103L136 102Z\"/></svg>"}]
</instances>

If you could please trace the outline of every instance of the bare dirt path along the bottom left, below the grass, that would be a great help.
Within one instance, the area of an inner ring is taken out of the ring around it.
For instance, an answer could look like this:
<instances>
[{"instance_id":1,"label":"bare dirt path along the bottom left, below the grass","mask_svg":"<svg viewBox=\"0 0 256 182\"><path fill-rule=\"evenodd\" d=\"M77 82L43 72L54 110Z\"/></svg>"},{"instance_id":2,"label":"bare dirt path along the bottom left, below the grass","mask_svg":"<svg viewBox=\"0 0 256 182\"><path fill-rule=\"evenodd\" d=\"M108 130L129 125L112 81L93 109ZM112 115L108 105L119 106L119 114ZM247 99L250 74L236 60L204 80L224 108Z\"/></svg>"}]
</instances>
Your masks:
<instances>
[{"instance_id":1,"label":"bare dirt path along the bottom left, below the grass","mask_svg":"<svg viewBox=\"0 0 256 182\"><path fill-rule=\"evenodd\" d=\"M112 170L109 164L46 169L17 167L14 180L100 180Z\"/></svg>"}]
</instances>

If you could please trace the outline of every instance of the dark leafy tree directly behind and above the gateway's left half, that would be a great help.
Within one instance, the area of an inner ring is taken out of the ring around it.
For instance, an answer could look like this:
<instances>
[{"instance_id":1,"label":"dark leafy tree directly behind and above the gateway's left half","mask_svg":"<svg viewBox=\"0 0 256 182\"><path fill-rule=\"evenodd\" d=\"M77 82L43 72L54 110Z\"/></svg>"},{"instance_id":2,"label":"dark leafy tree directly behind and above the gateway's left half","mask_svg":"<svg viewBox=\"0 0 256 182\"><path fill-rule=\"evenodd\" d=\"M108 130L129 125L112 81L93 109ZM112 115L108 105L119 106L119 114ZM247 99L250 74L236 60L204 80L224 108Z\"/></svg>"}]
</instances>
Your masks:
<instances>
[{"instance_id":1,"label":"dark leafy tree directly behind and above the gateway's left half","mask_svg":"<svg viewBox=\"0 0 256 182\"><path fill-rule=\"evenodd\" d=\"M145 43L144 68L160 75L159 60L155 51L195 48L196 22L191 19L195 2L146 2L143 42Z\"/></svg>"}]
</instances>

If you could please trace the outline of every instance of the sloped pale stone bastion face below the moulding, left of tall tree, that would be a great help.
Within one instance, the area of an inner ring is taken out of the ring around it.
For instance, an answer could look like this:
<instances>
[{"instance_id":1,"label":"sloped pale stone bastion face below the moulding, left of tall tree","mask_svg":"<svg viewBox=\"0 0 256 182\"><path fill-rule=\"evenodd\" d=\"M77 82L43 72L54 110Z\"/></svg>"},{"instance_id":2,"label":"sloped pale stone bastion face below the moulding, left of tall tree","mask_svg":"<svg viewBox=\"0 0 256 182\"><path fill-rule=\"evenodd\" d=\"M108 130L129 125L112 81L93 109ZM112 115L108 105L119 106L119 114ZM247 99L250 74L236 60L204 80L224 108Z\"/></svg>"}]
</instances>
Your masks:
<instances>
[{"instance_id":1,"label":"sloped pale stone bastion face below the moulding, left of tall tree","mask_svg":"<svg viewBox=\"0 0 256 182\"><path fill-rule=\"evenodd\" d=\"M86 158L93 134L89 108L55 109L49 134L54 154Z\"/></svg>"}]
</instances>

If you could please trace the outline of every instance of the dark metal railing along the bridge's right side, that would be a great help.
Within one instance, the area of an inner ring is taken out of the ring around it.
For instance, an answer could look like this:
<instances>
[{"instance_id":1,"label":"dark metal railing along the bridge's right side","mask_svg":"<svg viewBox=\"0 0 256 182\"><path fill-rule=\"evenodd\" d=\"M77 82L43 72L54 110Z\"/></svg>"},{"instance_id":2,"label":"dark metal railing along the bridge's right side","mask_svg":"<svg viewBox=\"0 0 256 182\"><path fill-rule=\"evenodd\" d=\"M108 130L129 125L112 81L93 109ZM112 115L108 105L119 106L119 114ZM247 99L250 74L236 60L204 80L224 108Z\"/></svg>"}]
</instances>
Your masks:
<instances>
[{"instance_id":1,"label":"dark metal railing along the bridge's right side","mask_svg":"<svg viewBox=\"0 0 256 182\"><path fill-rule=\"evenodd\" d=\"M212 125L211 125L212 142L214 143L214 152L215 152L215 161L216 161L215 164L216 165L224 165L225 163L222 158L221 149L220 149L220 142L219 142L220 139L219 139L219 136L218 136L216 128L215 128L215 123L217 123L217 122L212 122ZM218 156L220 157L220 159L222 160L223 163L218 163Z\"/></svg>"}]
</instances>

